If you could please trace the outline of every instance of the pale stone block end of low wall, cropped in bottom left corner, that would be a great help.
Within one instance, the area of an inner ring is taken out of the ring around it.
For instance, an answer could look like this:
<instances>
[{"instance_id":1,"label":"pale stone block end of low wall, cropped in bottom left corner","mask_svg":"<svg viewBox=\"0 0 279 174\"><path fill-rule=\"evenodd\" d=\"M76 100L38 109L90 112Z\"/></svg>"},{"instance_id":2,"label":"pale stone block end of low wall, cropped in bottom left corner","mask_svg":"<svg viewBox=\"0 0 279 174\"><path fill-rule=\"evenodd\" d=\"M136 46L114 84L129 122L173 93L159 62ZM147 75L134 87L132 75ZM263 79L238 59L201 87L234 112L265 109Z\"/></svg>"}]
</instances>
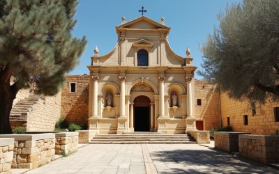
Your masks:
<instances>
[{"instance_id":1,"label":"pale stone block end of low wall, cropped in bottom left corner","mask_svg":"<svg viewBox=\"0 0 279 174\"><path fill-rule=\"evenodd\" d=\"M0 139L0 173L12 173L10 171L13 161L14 139Z\"/></svg>"}]
</instances>

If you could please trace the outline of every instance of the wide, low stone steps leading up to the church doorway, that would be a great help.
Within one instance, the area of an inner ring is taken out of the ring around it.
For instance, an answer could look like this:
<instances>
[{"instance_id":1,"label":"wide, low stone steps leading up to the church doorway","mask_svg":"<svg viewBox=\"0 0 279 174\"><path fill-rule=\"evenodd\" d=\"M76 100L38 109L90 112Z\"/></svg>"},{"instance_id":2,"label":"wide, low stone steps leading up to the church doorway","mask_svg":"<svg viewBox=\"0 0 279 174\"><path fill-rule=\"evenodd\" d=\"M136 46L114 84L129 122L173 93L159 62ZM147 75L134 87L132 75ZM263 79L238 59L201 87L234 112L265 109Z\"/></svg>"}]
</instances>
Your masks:
<instances>
[{"instance_id":1,"label":"wide, low stone steps leading up to the church doorway","mask_svg":"<svg viewBox=\"0 0 279 174\"><path fill-rule=\"evenodd\" d=\"M94 144L195 144L188 134L160 134L159 132L124 132L123 134L99 134Z\"/></svg>"}]
</instances>

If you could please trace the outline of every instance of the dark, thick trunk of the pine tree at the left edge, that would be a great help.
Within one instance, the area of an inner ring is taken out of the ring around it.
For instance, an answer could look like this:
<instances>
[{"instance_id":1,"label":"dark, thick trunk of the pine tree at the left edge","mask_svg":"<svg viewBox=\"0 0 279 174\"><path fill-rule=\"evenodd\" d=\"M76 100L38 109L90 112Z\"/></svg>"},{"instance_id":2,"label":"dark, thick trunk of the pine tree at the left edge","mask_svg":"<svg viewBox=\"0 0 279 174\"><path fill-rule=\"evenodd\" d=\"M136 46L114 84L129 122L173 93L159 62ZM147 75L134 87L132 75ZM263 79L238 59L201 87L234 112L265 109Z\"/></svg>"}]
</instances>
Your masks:
<instances>
[{"instance_id":1,"label":"dark, thick trunk of the pine tree at the left edge","mask_svg":"<svg viewBox=\"0 0 279 174\"><path fill-rule=\"evenodd\" d=\"M15 90L10 84L0 84L0 134L12 134L10 110L15 100Z\"/></svg>"}]
</instances>

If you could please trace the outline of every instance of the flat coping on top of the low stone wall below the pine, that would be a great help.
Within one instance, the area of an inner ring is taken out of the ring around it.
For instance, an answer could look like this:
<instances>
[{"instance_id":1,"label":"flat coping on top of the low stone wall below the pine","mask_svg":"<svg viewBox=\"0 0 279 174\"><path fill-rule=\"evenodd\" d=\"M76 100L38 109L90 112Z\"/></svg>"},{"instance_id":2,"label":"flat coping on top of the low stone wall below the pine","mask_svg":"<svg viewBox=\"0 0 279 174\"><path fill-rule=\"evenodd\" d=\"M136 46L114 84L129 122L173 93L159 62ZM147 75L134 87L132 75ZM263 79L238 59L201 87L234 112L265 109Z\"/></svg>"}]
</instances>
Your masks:
<instances>
[{"instance_id":1,"label":"flat coping on top of the low stone wall below the pine","mask_svg":"<svg viewBox=\"0 0 279 174\"><path fill-rule=\"evenodd\" d=\"M3 134L0 138L14 138L15 141L32 141L41 139L55 139L55 134Z\"/></svg>"}]
</instances>

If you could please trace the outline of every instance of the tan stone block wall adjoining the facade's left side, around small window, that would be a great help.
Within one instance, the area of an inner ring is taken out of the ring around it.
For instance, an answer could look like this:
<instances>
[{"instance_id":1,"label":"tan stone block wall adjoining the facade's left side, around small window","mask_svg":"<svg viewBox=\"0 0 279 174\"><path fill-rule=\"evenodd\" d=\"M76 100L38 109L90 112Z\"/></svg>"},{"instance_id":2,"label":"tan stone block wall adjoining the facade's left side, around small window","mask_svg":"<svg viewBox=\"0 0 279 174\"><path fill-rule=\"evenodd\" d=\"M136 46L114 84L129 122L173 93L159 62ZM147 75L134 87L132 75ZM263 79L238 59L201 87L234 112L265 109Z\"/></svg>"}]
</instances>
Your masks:
<instances>
[{"instance_id":1,"label":"tan stone block wall adjoining the facade's left side, around small window","mask_svg":"<svg viewBox=\"0 0 279 174\"><path fill-rule=\"evenodd\" d=\"M66 75L67 83L61 90L61 116L68 124L87 125L89 114L89 75ZM76 83L76 92L70 93L70 83Z\"/></svg>"}]
</instances>

